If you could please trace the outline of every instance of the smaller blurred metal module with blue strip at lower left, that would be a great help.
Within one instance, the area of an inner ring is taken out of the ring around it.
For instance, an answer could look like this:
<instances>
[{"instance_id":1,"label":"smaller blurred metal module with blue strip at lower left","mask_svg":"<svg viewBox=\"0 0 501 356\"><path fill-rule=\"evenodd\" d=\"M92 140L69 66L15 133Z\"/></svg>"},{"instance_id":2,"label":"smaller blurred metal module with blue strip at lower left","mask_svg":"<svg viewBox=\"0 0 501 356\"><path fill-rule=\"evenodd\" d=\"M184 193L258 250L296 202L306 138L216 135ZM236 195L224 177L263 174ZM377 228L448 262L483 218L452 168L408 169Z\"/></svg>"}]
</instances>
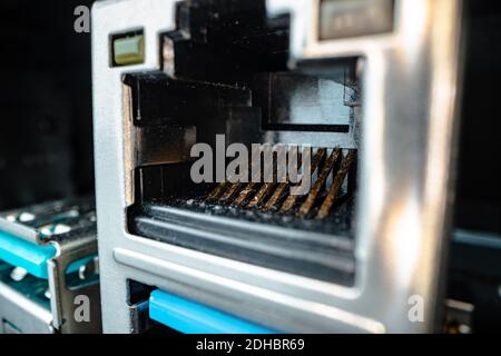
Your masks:
<instances>
[{"instance_id":1,"label":"smaller blurred metal module with blue strip at lower left","mask_svg":"<svg viewBox=\"0 0 501 356\"><path fill-rule=\"evenodd\" d=\"M100 333L98 273L94 197L1 212L0 333Z\"/></svg>"}]
</instances>

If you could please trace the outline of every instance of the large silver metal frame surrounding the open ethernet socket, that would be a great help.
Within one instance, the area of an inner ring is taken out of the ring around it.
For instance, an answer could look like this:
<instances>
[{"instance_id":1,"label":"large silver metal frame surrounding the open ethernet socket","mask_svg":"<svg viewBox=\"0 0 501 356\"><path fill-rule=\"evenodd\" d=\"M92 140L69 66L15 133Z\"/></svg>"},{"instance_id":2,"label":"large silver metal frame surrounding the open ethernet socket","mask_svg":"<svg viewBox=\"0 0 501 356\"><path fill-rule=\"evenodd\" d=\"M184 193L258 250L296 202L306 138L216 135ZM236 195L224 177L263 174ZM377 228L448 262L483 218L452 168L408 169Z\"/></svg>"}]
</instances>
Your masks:
<instances>
[{"instance_id":1,"label":"large silver metal frame surrounding the open ethernet socket","mask_svg":"<svg viewBox=\"0 0 501 356\"><path fill-rule=\"evenodd\" d=\"M129 230L127 211L136 198L131 157L137 156L130 152L124 75L166 69L161 36L176 30L177 6L170 0L102 1L92 9L92 76L99 254L101 281L108 286L101 295L105 332L134 330L127 280L279 330L439 329L461 1L395 0L392 30L350 39L320 39L320 1L263 4L268 18L288 14L288 68L364 59L354 283L298 276ZM110 68L109 36L137 28L144 29L144 62ZM409 318L409 303L416 295L425 300L422 323Z\"/></svg>"}]
</instances>

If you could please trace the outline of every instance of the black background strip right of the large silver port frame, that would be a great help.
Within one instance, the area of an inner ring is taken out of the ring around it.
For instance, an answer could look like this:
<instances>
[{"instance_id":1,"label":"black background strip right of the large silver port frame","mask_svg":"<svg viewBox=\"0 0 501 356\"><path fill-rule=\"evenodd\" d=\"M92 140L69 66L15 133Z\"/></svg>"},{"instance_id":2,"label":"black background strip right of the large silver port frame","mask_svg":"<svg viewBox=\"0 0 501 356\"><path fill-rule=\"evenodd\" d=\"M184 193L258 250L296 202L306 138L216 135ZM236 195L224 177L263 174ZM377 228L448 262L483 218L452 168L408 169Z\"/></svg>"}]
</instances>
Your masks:
<instances>
[{"instance_id":1,"label":"black background strip right of the large silver port frame","mask_svg":"<svg viewBox=\"0 0 501 356\"><path fill-rule=\"evenodd\" d=\"M468 0L456 225L501 233L501 1Z\"/></svg>"}]
</instances>

